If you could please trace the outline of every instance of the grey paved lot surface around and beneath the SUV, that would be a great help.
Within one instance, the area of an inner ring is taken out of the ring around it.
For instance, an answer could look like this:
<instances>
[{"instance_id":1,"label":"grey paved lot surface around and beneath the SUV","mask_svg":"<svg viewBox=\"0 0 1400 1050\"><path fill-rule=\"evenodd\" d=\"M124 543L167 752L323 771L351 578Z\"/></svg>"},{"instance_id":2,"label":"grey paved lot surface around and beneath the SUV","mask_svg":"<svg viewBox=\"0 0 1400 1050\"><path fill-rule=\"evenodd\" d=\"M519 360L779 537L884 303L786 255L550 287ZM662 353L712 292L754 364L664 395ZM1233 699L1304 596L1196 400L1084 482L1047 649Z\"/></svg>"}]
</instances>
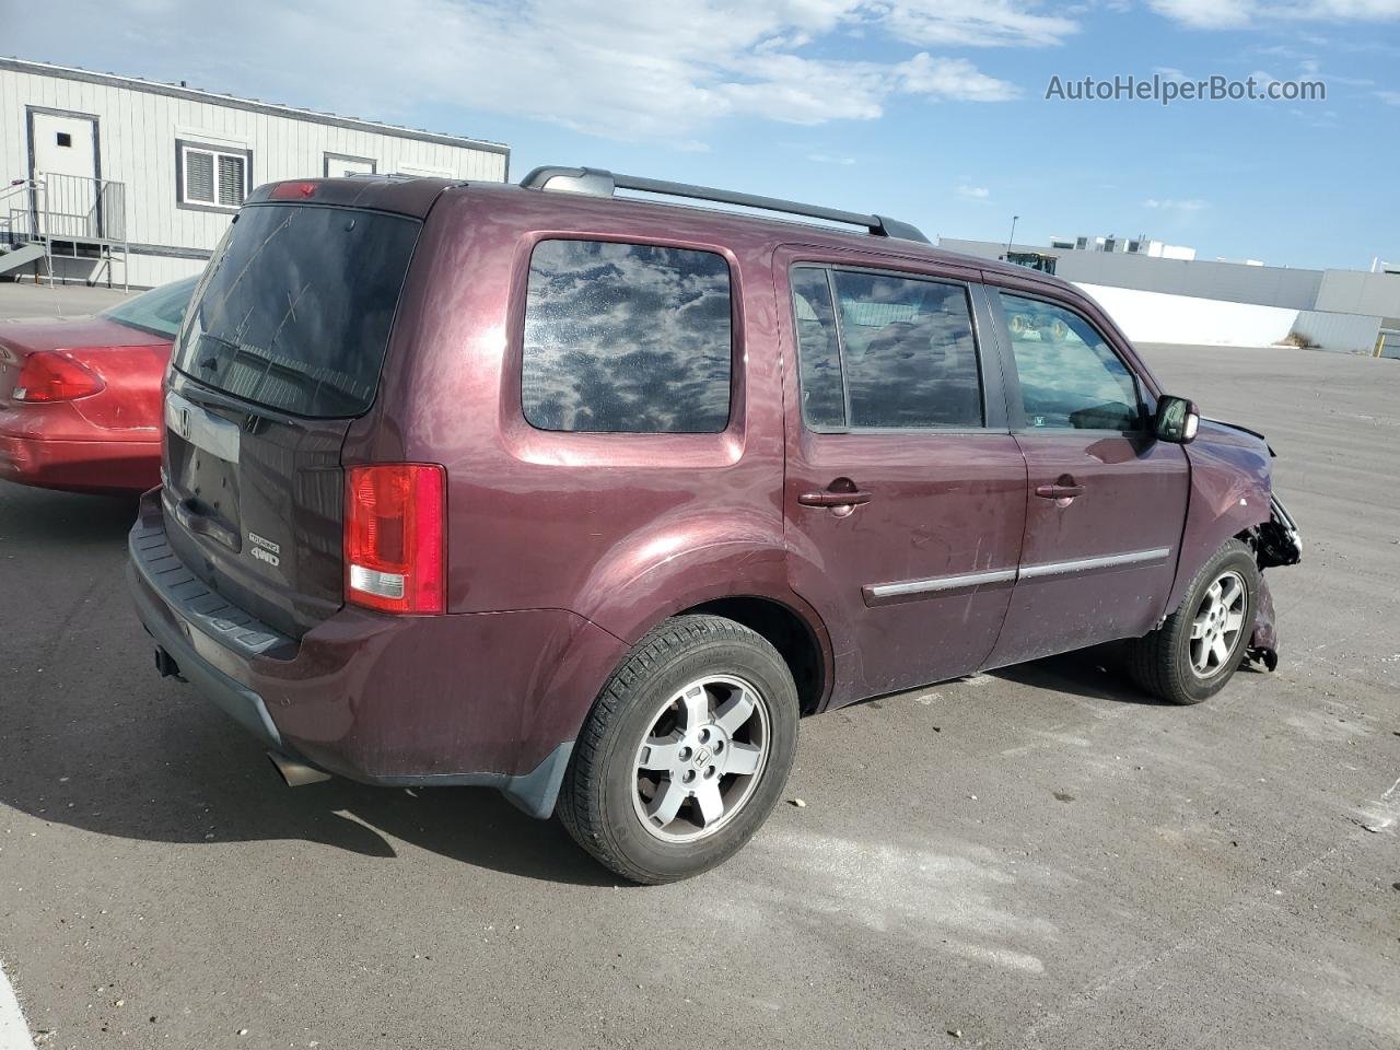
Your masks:
<instances>
[{"instance_id":1,"label":"grey paved lot surface around and beneath the SUV","mask_svg":"<svg viewBox=\"0 0 1400 1050\"><path fill-rule=\"evenodd\" d=\"M155 676L120 577L133 505L0 486L0 956L29 1026L46 1047L1394 1047L1400 363L1145 353L1278 451L1308 543L1270 573L1278 672L1165 707L1100 650L809 720L806 805L657 889L493 792L283 787Z\"/></svg>"}]
</instances>

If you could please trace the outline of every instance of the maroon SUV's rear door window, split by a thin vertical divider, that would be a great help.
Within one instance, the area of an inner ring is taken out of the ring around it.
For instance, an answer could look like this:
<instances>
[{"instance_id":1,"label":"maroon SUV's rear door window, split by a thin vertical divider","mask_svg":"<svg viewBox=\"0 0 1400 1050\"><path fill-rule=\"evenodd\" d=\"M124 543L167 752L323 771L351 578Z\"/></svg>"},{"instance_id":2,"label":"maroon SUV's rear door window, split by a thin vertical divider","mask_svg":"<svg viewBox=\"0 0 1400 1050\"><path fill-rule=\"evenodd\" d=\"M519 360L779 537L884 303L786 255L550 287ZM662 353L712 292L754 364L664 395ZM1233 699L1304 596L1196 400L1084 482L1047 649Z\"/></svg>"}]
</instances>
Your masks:
<instances>
[{"instance_id":1,"label":"maroon SUV's rear door window, split by a thin vertical divider","mask_svg":"<svg viewBox=\"0 0 1400 1050\"><path fill-rule=\"evenodd\" d=\"M808 424L983 426L977 344L960 284L799 267L792 305Z\"/></svg>"}]
</instances>

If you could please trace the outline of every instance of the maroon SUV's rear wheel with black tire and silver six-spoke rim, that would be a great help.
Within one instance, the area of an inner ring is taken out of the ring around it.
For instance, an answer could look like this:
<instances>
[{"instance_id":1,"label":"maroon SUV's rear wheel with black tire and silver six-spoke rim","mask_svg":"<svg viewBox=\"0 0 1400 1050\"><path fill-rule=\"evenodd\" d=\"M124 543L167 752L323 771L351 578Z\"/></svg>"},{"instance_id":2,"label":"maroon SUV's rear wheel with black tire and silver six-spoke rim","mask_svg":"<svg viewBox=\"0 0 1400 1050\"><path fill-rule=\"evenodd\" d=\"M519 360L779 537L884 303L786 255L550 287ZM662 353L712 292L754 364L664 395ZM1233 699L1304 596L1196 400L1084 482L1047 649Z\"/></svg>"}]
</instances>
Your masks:
<instances>
[{"instance_id":1,"label":"maroon SUV's rear wheel with black tire and silver six-spoke rim","mask_svg":"<svg viewBox=\"0 0 1400 1050\"><path fill-rule=\"evenodd\" d=\"M792 673L767 640L720 616L676 616L603 686L564 774L560 819L624 879L697 875L773 811L797 722Z\"/></svg>"}]
</instances>

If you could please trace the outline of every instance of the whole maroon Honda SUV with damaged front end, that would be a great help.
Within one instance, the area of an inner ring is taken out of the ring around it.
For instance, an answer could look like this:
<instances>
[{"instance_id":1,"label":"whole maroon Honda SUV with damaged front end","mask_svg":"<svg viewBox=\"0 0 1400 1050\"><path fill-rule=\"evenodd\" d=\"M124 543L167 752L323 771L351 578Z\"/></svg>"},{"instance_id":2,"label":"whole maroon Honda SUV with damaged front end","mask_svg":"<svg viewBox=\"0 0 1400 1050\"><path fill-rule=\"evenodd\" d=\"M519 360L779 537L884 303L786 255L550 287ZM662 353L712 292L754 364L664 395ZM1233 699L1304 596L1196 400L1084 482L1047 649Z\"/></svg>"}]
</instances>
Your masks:
<instances>
[{"instance_id":1,"label":"whole maroon Honda SUV with damaged front end","mask_svg":"<svg viewBox=\"0 0 1400 1050\"><path fill-rule=\"evenodd\" d=\"M162 673L290 781L494 785L640 882L753 834L804 714L1114 638L1204 700L1298 559L1264 441L1074 287L592 169L260 188L165 438Z\"/></svg>"}]
</instances>

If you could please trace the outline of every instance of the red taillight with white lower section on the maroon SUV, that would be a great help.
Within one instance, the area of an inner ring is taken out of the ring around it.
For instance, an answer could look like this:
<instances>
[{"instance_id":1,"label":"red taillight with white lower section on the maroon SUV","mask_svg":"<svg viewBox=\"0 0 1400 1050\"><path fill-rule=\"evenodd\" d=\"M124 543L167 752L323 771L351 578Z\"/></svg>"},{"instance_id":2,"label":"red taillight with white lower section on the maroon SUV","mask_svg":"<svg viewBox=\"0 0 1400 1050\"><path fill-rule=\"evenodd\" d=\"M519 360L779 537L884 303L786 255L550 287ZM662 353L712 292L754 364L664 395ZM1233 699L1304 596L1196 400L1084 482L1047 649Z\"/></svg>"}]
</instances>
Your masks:
<instances>
[{"instance_id":1,"label":"red taillight with white lower section on the maroon SUV","mask_svg":"<svg viewBox=\"0 0 1400 1050\"><path fill-rule=\"evenodd\" d=\"M346 601L392 613L441 613L447 470L437 463L353 466L346 477Z\"/></svg>"}]
</instances>

